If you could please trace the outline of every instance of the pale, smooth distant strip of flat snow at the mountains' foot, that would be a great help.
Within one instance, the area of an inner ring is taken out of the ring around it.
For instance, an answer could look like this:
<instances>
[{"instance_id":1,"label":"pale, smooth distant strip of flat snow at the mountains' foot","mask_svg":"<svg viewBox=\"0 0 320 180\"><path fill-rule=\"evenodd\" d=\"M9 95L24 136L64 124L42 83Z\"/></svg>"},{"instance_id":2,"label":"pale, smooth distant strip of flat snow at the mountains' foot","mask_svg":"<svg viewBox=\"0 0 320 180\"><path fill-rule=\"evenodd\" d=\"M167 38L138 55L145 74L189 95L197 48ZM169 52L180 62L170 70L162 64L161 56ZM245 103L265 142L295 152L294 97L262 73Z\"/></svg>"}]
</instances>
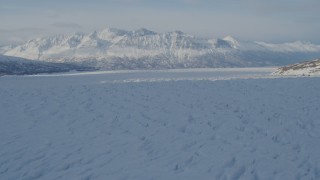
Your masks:
<instances>
[{"instance_id":1,"label":"pale, smooth distant strip of flat snow at the mountains' foot","mask_svg":"<svg viewBox=\"0 0 320 180\"><path fill-rule=\"evenodd\" d=\"M25 77L63 77L81 76L94 79L100 83L115 82L156 82L181 80L228 80L245 78L267 78L276 70L275 67L266 68L197 68L197 69L168 69L168 70L118 70L70 72L56 74L38 74ZM79 77L73 77L79 79ZM68 79L66 79L68 80Z\"/></svg>"}]
</instances>

